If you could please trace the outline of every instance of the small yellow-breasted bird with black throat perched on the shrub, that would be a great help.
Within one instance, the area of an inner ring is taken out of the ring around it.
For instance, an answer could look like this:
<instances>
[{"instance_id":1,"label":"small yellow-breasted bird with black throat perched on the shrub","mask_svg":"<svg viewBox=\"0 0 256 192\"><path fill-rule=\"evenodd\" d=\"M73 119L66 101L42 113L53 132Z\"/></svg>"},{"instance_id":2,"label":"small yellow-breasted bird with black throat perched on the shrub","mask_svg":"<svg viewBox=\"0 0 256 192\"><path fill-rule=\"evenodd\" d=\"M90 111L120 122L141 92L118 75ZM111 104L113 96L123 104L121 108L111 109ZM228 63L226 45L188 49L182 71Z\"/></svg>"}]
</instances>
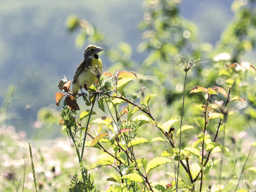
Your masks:
<instances>
[{"instance_id":1,"label":"small yellow-breasted bird with black throat perched on the shrub","mask_svg":"<svg viewBox=\"0 0 256 192\"><path fill-rule=\"evenodd\" d=\"M90 88L102 73L102 61L99 58L99 52L103 49L95 45L88 45L84 51L84 60L77 67L76 74L72 82L72 92L78 93L86 84Z\"/></svg>"}]
</instances>

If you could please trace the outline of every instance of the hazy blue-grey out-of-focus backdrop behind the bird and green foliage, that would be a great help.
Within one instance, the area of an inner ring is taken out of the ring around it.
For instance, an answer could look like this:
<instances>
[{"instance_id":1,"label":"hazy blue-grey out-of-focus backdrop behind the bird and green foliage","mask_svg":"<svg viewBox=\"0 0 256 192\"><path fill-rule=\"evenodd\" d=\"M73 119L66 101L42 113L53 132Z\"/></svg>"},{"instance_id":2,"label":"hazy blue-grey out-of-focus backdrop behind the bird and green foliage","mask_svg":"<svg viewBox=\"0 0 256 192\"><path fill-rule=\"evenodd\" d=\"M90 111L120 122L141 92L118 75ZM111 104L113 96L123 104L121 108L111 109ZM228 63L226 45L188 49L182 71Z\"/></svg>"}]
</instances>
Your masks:
<instances>
[{"instance_id":1,"label":"hazy blue-grey out-of-focus backdrop behind the bird and green foliage","mask_svg":"<svg viewBox=\"0 0 256 192\"><path fill-rule=\"evenodd\" d=\"M232 1L180 1L180 14L197 25L198 41L215 45L232 20ZM131 45L131 58L141 64L147 51L138 52L142 40L138 25L143 20L143 2L127 1L15 1L0 2L0 78L4 94L14 85L8 119L17 131L35 136L40 127L38 111L54 108L54 93L63 76L71 80L83 60L84 45L76 45L79 31L69 33L66 20L77 15L108 37L111 49L120 42ZM88 42L90 44L91 42ZM103 58L104 69L113 63ZM125 68L124 68L125 69ZM42 111L41 111L42 112ZM57 134L57 133L56 133ZM44 135L41 135L44 136ZM56 135L55 135L56 136ZM47 136L48 137L48 136Z\"/></svg>"}]
</instances>

